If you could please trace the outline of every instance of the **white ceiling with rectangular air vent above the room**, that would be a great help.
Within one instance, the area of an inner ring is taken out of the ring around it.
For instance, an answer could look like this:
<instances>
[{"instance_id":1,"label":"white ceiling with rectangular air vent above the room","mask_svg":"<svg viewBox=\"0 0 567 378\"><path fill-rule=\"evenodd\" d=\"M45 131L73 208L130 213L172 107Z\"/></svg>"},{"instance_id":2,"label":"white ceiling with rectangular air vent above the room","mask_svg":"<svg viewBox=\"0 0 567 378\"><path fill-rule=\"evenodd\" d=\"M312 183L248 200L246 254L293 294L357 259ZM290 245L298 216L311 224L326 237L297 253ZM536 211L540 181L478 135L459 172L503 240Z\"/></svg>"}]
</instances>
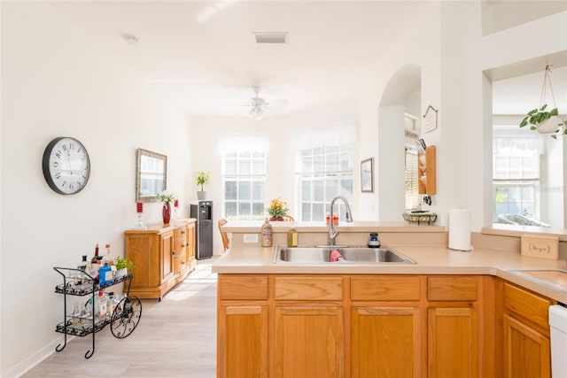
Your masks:
<instances>
[{"instance_id":1,"label":"white ceiling with rectangular air vent above the room","mask_svg":"<svg viewBox=\"0 0 567 378\"><path fill-rule=\"evenodd\" d=\"M502 9L515 2L491 1L498 17L514 14ZM397 42L419 33L416 25L431 7L427 1L353 0L49 4L90 43L127 66L147 90L190 114L207 116L245 116L252 86L260 86L260 97L268 102L287 100L274 114L356 98L399 48ZM254 32L285 32L288 43L257 44ZM564 72L554 75L566 82ZM535 85L539 92L543 67L536 76L528 78L527 91ZM495 112L512 112L511 104L520 103L524 93L517 85L510 79L495 86ZM558 101L567 99L567 86L558 82L554 89Z\"/></svg>"}]
</instances>

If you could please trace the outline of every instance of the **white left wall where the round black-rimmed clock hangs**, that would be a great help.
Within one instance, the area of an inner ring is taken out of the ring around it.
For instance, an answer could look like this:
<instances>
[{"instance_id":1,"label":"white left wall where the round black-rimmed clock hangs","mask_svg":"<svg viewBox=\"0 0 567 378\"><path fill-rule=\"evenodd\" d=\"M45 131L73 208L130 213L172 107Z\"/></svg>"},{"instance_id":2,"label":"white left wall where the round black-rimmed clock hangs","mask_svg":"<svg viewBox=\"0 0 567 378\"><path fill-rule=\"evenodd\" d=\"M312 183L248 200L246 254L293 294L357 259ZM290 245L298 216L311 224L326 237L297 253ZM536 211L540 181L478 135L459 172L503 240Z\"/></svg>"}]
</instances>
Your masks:
<instances>
[{"instance_id":1,"label":"white left wall where the round black-rimmed clock hangs","mask_svg":"<svg viewBox=\"0 0 567 378\"><path fill-rule=\"evenodd\" d=\"M10 376L61 339L52 267L75 266L95 243L123 255L123 231L136 225L136 149L167 155L168 189L182 201L191 163L187 118L46 4L2 4L2 105L0 375ZM89 182L74 196L43 179L43 150L59 135L89 150ZM160 220L160 204L144 210Z\"/></svg>"}]
</instances>

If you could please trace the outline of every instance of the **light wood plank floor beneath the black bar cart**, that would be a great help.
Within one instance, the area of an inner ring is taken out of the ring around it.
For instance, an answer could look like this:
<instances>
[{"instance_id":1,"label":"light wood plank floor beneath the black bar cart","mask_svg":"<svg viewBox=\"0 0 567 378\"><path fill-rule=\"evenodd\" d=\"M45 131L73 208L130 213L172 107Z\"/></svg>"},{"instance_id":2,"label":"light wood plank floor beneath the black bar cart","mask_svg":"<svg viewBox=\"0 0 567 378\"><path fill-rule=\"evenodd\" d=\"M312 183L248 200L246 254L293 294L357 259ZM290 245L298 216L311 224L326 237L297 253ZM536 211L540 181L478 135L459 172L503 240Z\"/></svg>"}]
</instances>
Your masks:
<instances>
[{"instance_id":1,"label":"light wood plank floor beneath the black bar cart","mask_svg":"<svg viewBox=\"0 0 567 378\"><path fill-rule=\"evenodd\" d=\"M75 337L63 351L24 377L194 377L216 375L215 258L199 260L194 272L159 303L142 301L137 328L124 339L106 326L95 336L95 354L85 359L92 336Z\"/></svg>"}]
</instances>

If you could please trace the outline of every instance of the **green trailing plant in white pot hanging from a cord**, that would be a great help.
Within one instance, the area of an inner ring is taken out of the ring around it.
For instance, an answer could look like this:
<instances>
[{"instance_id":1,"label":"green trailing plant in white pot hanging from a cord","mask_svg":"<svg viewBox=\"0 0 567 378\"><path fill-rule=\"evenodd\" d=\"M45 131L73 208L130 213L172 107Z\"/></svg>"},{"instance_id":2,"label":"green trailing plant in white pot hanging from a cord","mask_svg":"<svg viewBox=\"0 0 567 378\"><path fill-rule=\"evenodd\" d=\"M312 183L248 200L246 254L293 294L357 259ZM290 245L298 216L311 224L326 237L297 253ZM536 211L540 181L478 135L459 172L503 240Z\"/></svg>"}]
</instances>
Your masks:
<instances>
[{"instance_id":1,"label":"green trailing plant in white pot hanging from a cord","mask_svg":"<svg viewBox=\"0 0 567 378\"><path fill-rule=\"evenodd\" d=\"M543 88L541 89L540 106L528 112L524 120L520 122L520 127L530 125L530 130L537 130L541 134L552 134L551 137L557 139L558 134L567 134L567 121L559 116L557 105L555 104L555 96L551 87L551 66L546 66L546 72L543 77ZM546 92L549 86L551 98L553 100L554 108L548 110L546 104Z\"/></svg>"}]
</instances>

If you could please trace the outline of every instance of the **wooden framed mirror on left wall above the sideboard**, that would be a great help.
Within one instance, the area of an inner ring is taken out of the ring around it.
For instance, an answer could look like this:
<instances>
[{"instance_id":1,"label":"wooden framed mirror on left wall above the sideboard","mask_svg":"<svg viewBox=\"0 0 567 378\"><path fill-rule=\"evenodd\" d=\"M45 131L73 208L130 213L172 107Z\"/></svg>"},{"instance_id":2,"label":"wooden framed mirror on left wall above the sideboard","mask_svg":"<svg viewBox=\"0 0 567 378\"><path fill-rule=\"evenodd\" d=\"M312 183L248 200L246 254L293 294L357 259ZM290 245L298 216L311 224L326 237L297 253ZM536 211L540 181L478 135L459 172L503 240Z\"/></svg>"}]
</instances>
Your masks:
<instances>
[{"instance_id":1,"label":"wooden framed mirror on left wall above the sideboard","mask_svg":"<svg viewBox=\"0 0 567 378\"><path fill-rule=\"evenodd\" d=\"M136 202L157 201L167 189L167 156L138 149L136 161Z\"/></svg>"}]
</instances>

